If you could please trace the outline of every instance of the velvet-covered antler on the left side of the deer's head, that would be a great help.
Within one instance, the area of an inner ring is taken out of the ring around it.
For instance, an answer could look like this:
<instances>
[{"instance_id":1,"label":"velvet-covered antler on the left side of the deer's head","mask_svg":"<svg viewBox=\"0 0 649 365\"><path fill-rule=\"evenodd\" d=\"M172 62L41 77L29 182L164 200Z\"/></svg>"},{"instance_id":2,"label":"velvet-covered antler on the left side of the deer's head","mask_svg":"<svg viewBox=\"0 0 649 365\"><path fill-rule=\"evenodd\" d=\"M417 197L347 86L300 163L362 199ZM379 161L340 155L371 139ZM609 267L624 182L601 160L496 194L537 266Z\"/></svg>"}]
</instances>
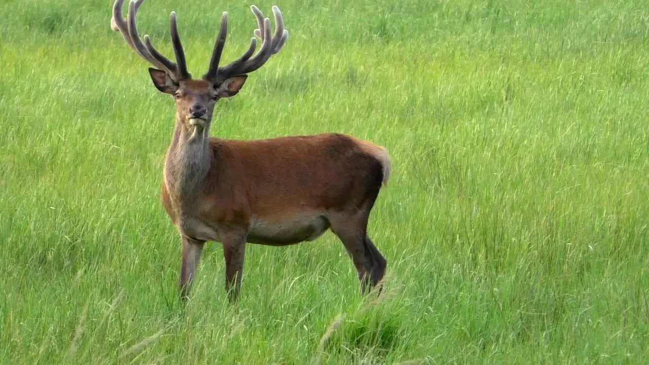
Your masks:
<instances>
[{"instance_id":1,"label":"velvet-covered antler on the left side of the deer's head","mask_svg":"<svg viewBox=\"0 0 649 365\"><path fill-rule=\"evenodd\" d=\"M190 79L191 75L187 71L185 53L182 49L182 44L180 43L180 36L178 35L176 12L171 12L171 42L173 43L173 51L178 64L171 62L169 58L164 57L162 53L158 52L158 50L153 47L149 34L145 34L144 43L142 42L136 25L136 14L138 13L142 3L144 3L144 0L130 0L127 19L123 19L122 6L124 0L115 0L113 5L113 17L110 19L111 29L113 31L121 32L124 40L126 40L127 44L129 44L138 55L149 61L149 63L153 64L156 68L165 71L167 76L169 76L173 82L178 83L181 80Z\"/></svg>"}]
</instances>

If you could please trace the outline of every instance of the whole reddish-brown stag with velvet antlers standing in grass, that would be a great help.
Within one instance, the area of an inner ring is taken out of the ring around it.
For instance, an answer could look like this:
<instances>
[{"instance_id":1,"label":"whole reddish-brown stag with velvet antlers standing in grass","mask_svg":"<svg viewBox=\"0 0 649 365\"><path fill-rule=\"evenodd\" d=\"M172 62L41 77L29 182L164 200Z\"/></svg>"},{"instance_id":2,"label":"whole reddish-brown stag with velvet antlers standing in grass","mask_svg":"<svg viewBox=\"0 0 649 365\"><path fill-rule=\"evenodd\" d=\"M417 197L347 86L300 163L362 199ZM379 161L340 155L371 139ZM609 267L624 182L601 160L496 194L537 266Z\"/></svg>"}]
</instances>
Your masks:
<instances>
[{"instance_id":1,"label":"whole reddish-brown stag with velvet antlers standing in grass","mask_svg":"<svg viewBox=\"0 0 649 365\"><path fill-rule=\"evenodd\" d=\"M154 86L176 103L171 144L164 162L161 200L180 234L180 299L189 299L206 242L223 246L225 290L238 301L247 244L285 246L309 242L327 230L343 243L352 259L361 292L378 286L386 258L367 234L370 212L391 162L385 147L337 132L280 136L258 140L210 137L217 101L238 94L249 73L261 68L286 43L288 31L273 6L275 32L269 18L252 5L258 28L247 51L221 66L228 13L223 12L208 71L194 79L188 71L171 12L171 42L176 62L162 55L145 34L140 38L136 14L144 0L116 0L111 28L153 67ZM258 53L256 39L262 46ZM381 284L381 285L380 285Z\"/></svg>"}]
</instances>

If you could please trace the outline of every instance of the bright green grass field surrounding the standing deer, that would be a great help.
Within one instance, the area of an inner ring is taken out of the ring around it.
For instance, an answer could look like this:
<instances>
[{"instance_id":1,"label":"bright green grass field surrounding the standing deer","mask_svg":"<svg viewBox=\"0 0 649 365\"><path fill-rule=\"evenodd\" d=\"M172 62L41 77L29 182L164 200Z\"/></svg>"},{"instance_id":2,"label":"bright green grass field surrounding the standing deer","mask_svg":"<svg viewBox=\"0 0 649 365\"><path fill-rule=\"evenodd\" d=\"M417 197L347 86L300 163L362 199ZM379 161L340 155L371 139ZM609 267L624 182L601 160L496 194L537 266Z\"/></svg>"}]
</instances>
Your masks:
<instances>
[{"instance_id":1,"label":"bright green grass field surrounding the standing deer","mask_svg":"<svg viewBox=\"0 0 649 365\"><path fill-rule=\"evenodd\" d=\"M206 70L252 3L147 0L141 34ZM159 200L175 106L111 0L3 0L1 364L644 364L649 2L258 1L282 52L212 135L345 132L389 149L363 299L327 233L249 245L239 305L211 243L190 303Z\"/></svg>"}]
</instances>

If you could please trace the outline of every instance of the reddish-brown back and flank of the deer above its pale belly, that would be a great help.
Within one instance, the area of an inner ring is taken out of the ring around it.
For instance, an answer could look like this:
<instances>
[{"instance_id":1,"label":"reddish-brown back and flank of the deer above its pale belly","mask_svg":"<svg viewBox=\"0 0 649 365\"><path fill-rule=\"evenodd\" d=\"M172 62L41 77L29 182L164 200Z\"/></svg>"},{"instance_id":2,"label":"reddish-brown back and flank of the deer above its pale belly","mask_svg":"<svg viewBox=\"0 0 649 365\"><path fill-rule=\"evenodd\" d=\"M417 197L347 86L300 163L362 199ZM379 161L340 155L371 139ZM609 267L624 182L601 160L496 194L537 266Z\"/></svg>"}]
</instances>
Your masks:
<instances>
[{"instance_id":1,"label":"reddish-brown back and flank of the deer above its pale belly","mask_svg":"<svg viewBox=\"0 0 649 365\"><path fill-rule=\"evenodd\" d=\"M258 216L360 206L384 179L384 164L373 152L381 147L345 134L212 138L210 144L215 190L244 188Z\"/></svg>"}]
</instances>

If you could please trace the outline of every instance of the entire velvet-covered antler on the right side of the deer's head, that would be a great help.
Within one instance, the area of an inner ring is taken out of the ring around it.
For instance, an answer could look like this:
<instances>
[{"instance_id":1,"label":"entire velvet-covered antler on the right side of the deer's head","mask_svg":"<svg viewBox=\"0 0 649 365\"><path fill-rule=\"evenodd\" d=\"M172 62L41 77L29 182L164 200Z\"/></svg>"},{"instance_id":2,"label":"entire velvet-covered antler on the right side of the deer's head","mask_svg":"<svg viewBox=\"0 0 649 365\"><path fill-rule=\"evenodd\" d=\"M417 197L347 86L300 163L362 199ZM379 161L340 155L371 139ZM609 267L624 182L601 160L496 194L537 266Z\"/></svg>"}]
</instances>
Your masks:
<instances>
[{"instance_id":1,"label":"entire velvet-covered antler on the right side of the deer's head","mask_svg":"<svg viewBox=\"0 0 649 365\"><path fill-rule=\"evenodd\" d=\"M282 17L280 9L276 5L273 5L273 14L275 15L276 26L275 34L273 34L272 38L271 20L269 18L263 18L263 14L257 6L252 5L251 10L257 18L257 25L259 27L254 30L254 35L262 40L262 48L259 53L252 57L257 45L257 40L253 37L250 42L250 47L248 47L248 50L245 51L241 57L227 66L219 67L219 61L221 60L221 53L223 53L223 47L225 46L225 36L227 35L228 29L228 13L223 12L223 16L221 16L221 28L219 29L216 44L214 45L212 59L210 60L210 68L203 76L203 79L209 80L213 84L220 84L229 77L252 72L262 67L272 55L275 55L280 51L280 49L282 49L282 46L284 46L284 43L286 43L286 39L288 38L288 31L284 29L284 18Z\"/></svg>"}]
</instances>

